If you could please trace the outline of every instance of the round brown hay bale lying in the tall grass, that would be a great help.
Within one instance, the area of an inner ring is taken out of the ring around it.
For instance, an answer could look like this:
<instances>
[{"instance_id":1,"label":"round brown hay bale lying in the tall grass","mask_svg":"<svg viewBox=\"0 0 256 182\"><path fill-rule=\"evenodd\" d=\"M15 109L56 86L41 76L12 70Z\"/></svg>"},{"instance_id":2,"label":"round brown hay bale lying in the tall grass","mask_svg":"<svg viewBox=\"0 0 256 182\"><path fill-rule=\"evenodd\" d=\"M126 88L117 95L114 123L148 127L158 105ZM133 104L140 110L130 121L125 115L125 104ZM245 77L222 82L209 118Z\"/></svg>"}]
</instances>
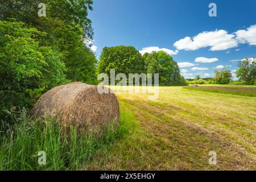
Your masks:
<instances>
[{"instance_id":1,"label":"round brown hay bale lying in the tall grass","mask_svg":"<svg viewBox=\"0 0 256 182\"><path fill-rule=\"evenodd\" d=\"M44 93L31 114L60 119L63 126L79 125L93 131L109 124L116 126L120 111L113 92L100 94L95 85L72 82Z\"/></svg>"}]
</instances>

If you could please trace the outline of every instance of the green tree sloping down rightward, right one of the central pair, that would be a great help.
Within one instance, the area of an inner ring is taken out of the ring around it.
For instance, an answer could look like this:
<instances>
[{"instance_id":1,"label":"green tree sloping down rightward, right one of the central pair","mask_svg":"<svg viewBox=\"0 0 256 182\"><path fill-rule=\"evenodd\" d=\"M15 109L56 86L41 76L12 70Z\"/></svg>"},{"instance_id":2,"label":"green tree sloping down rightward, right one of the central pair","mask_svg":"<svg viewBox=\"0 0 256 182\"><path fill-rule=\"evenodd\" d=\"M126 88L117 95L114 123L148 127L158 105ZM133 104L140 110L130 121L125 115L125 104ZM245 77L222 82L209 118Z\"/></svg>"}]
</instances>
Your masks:
<instances>
[{"instance_id":1,"label":"green tree sloping down rightward, right one of the central pair","mask_svg":"<svg viewBox=\"0 0 256 182\"><path fill-rule=\"evenodd\" d=\"M180 76L179 66L168 53L164 51L151 52L143 55L144 70L147 73L159 73L160 84L186 84Z\"/></svg>"}]
</instances>

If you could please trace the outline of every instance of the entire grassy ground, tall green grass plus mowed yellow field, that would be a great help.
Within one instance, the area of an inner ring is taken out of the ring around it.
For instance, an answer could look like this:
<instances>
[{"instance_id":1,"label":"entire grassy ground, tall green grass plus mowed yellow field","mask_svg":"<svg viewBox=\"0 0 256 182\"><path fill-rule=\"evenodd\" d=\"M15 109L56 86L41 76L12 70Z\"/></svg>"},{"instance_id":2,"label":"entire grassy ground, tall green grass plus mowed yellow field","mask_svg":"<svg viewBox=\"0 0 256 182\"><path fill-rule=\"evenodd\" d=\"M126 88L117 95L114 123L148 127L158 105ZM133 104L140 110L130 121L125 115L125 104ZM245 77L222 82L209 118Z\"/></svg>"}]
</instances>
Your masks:
<instances>
[{"instance_id":1,"label":"entire grassy ground, tall green grass plus mowed yellow field","mask_svg":"<svg viewBox=\"0 0 256 182\"><path fill-rule=\"evenodd\" d=\"M256 169L256 97L181 86L159 90L158 100L117 93L120 125L101 139L73 137L63 144L58 125L18 118L14 135L0 138L0 169ZM46 166L33 157L40 150L47 151ZM210 151L217 153L216 165L208 162Z\"/></svg>"}]
</instances>

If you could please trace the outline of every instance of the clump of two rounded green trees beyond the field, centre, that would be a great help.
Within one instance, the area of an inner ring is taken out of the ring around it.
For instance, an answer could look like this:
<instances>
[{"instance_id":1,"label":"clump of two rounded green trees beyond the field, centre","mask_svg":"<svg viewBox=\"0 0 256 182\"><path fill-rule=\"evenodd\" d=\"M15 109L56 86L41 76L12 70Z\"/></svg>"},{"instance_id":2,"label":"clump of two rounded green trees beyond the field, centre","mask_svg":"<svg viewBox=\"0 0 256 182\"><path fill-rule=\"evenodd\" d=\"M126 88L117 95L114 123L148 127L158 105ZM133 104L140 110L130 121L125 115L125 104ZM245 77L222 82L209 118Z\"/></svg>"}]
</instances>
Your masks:
<instances>
[{"instance_id":1,"label":"clump of two rounded green trees beyond the field, centre","mask_svg":"<svg viewBox=\"0 0 256 182\"><path fill-rule=\"evenodd\" d=\"M110 69L115 69L115 74L124 73L127 77L129 73L159 73L160 85L186 84L176 61L164 51L141 55L133 46L104 47L97 72L107 73L110 78Z\"/></svg>"}]
</instances>

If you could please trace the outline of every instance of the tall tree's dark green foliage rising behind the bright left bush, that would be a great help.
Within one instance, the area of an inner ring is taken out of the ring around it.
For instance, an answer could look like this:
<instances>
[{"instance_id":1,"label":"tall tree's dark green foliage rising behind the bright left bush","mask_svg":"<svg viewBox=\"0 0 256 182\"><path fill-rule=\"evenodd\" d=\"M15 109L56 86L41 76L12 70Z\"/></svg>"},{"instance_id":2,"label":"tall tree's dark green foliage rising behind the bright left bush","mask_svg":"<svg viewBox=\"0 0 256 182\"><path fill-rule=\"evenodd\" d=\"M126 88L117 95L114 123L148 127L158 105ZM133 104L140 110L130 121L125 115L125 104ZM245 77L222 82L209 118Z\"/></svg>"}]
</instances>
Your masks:
<instances>
[{"instance_id":1,"label":"tall tree's dark green foliage rising behind the bright left bush","mask_svg":"<svg viewBox=\"0 0 256 182\"><path fill-rule=\"evenodd\" d=\"M67 68L67 78L93 84L96 81L96 56L85 42L93 39L88 16L91 0L46 0L46 17L38 16L39 0L1 1L0 19L15 18L46 32L40 46L60 52Z\"/></svg>"}]
</instances>

